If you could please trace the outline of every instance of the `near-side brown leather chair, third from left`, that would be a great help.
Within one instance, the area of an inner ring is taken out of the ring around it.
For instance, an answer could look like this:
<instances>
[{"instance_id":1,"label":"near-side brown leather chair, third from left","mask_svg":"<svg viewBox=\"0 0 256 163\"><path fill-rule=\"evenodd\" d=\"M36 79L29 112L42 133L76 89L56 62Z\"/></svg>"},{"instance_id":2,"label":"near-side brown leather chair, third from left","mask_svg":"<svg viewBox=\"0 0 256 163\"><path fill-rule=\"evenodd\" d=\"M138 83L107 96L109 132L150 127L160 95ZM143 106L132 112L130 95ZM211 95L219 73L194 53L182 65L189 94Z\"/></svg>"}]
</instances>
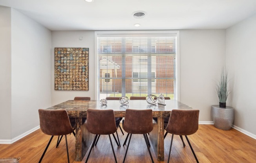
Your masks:
<instances>
[{"instance_id":1,"label":"near-side brown leather chair, third from left","mask_svg":"<svg viewBox=\"0 0 256 163\"><path fill-rule=\"evenodd\" d=\"M126 158L126 154L130 145L132 134L143 134L148 152L150 154L150 158L152 163L154 160L152 158L152 154L150 152L150 147L148 145L148 140L146 139L146 134L153 130L153 122L152 122L152 110L135 110L135 109L126 109L125 117L124 117L124 127L123 129L130 134L127 149L124 155L124 160Z\"/></svg>"}]
</instances>

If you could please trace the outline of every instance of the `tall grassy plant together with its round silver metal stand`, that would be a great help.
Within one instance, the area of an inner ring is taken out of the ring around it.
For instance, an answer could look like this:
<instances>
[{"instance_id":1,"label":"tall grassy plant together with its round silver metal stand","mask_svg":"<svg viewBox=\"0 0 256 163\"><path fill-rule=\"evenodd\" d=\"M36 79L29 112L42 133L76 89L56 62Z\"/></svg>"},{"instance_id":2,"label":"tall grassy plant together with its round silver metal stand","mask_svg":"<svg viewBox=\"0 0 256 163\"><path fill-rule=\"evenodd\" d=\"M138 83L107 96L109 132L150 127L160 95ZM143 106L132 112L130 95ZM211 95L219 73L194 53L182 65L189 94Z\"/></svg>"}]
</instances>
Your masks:
<instances>
[{"instance_id":1,"label":"tall grassy plant together with its round silver metal stand","mask_svg":"<svg viewBox=\"0 0 256 163\"><path fill-rule=\"evenodd\" d=\"M220 80L216 85L219 105L212 105L212 120L216 128L230 130L234 121L234 109L232 107L226 107L227 97L230 94L226 67L221 69Z\"/></svg>"}]
</instances>

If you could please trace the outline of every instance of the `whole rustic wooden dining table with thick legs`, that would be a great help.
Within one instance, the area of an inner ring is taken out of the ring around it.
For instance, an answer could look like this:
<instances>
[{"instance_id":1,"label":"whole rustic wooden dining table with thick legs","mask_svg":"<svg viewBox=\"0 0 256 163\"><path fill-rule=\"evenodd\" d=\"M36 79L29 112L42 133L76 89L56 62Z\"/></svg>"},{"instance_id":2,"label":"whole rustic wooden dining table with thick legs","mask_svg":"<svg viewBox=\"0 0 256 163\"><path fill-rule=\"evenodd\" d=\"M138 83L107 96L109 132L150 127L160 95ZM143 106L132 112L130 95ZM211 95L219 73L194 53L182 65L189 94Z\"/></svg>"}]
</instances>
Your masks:
<instances>
[{"instance_id":1,"label":"whole rustic wooden dining table with thick legs","mask_svg":"<svg viewBox=\"0 0 256 163\"><path fill-rule=\"evenodd\" d=\"M129 100L128 102L127 105L122 105L119 100L108 100L106 105L101 105L100 100L68 100L47 109L65 109L70 118L75 118L75 161L82 161L94 138L94 135L87 131L86 123L82 124L82 118L86 118L87 109L112 109L115 117L124 117L126 109L152 109L152 116L157 118L157 122L153 123L153 130L149 137L157 160L164 161L164 118L169 117L173 109L193 108L177 100L165 100L165 105L150 105L146 100Z\"/></svg>"}]
</instances>

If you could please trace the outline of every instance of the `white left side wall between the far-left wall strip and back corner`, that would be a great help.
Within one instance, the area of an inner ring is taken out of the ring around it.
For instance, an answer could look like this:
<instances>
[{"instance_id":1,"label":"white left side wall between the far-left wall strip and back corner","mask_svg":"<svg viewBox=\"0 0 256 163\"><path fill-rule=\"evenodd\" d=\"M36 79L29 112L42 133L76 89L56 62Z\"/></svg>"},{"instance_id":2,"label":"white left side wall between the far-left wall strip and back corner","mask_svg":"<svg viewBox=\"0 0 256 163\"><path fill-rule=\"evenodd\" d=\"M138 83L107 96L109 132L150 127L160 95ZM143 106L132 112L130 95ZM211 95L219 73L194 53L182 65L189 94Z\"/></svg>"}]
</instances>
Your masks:
<instances>
[{"instance_id":1,"label":"white left side wall between the far-left wall strip and back corner","mask_svg":"<svg viewBox=\"0 0 256 163\"><path fill-rule=\"evenodd\" d=\"M51 106L51 31L11 9L12 139L39 125Z\"/></svg>"}]
</instances>

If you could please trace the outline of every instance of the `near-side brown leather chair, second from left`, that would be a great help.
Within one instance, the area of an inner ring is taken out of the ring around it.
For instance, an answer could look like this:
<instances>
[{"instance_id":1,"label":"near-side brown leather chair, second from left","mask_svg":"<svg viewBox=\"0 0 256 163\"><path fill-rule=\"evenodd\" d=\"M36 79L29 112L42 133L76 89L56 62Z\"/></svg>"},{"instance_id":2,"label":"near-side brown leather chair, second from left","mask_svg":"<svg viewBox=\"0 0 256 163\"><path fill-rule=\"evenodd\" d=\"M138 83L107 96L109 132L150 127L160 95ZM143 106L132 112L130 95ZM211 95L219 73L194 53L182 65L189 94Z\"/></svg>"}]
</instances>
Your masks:
<instances>
[{"instance_id":1,"label":"near-side brown leather chair, second from left","mask_svg":"<svg viewBox=\"0 0 256 163\"><path fill-rule=\"evenodd\" d=\"M95 138L91 145L91 149L95 145L95 141L98 135L108 135L111 143L111 147L113 150L113 154L115 157L115 162L117 163L117 158L115 156L115 150L113 148L112 140L110 138L110 134L114 134L117 132L117 127L115 124L115 114L113 110L97 110L97 109L87 109L87 120L86 120L86 128L87 130L95 134ZM118 138L118 136L117 136ZM91 149L89 151L88 157L86 159L86 163L91 154Z\"/></svg>"}]
</instances>

